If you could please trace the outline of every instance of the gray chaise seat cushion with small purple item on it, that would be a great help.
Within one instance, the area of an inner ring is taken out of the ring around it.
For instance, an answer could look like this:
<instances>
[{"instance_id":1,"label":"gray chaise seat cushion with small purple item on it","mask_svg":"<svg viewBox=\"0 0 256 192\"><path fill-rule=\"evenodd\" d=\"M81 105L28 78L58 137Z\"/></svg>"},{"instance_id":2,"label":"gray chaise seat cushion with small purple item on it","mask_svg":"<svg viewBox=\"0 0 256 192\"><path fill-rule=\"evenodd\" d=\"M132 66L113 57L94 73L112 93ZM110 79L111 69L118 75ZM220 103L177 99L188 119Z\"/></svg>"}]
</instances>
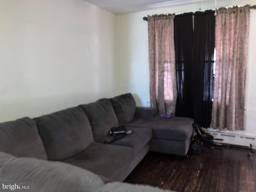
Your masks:
<instances>
[{"instance_id":1,"label":"gray chaise seat cushion with small purple item on it","mask_svg":"<svg viewBox=\"0 0 256 192\"><path fill-rule=\"evenodd\" d=\"M153 138L186 141L193 134L193 123L193 119L186 117L162 118L157 116L144 126L152 128Z\"/></svg>"}]
</instances>

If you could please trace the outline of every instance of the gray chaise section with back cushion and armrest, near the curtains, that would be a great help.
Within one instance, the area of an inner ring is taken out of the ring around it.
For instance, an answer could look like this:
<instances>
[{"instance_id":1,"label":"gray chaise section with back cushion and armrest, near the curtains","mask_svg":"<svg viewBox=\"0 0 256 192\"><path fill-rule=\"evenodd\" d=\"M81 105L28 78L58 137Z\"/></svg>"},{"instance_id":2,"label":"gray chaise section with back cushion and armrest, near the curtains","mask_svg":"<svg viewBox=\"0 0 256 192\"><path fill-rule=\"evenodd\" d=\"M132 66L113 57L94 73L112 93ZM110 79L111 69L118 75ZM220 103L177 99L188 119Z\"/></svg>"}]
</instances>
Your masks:
<instances>
[{"instance_id":1,"label":"gray chaise section with back cushion and armrest, near the curtains","mask_svg":"<svg viewBox=\"0 0 256 192\"><path fill-rule=\"evenodd\" d=\"M185 117L162 118L153 108L136 107L132 94L110 99L120 125L127 129L150 128L150 151L186 156L193 138L194 120Z\"/></svg>"}]
</instances>

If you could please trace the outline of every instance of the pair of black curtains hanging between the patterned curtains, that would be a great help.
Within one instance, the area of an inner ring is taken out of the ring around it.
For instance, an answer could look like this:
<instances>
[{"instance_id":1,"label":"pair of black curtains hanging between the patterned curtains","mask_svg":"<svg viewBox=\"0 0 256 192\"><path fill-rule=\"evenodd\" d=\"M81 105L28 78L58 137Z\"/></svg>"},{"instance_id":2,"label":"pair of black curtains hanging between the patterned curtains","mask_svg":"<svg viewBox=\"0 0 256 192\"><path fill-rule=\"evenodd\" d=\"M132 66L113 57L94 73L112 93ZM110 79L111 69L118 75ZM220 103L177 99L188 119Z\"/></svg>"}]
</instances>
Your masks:
<instances>
[{"instance_id":1,"label":"pair of black curtains hanging between the patterned curtains","mask_svg":"<svg viewBox=\"0 0 256 192\"><path fill-rule=\"evenodd\" d=\"M214 38L214 12L196 12L194 22L192 14L175 17L176 116L194 118L206 128L212 118Z\"/></svg>"}]
</instances>

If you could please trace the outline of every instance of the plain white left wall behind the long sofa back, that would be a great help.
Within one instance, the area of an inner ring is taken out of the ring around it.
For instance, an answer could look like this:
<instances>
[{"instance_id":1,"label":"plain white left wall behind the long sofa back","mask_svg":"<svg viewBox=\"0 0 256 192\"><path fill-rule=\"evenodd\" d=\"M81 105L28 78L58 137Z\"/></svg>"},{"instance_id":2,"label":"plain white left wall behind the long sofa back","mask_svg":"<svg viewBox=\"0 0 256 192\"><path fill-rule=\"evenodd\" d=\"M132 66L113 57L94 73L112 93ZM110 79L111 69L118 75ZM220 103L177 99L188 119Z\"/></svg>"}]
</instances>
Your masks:
<instances>
[{"instance_id":1,"label":"plain white left wall behind the long sofa back","mask_svg":"<svg viewBox=\"0 0 256 192\"><path fill-rule=\"evenodd\" d=\"M114 96L114 17L83 0L1 0L0 122Z\"/></svg>"}]
</instances>

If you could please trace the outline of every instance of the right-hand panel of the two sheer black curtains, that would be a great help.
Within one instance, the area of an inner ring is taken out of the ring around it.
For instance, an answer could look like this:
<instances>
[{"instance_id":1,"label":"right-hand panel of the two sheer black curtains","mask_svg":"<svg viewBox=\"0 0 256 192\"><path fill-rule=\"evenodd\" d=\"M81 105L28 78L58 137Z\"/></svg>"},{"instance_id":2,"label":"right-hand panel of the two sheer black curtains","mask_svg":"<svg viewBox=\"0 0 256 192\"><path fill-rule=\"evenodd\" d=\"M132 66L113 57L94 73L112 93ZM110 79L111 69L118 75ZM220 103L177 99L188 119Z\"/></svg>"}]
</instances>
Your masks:
<instances>
[{"instance_id":1,"label":"right-hand panel of the two sheer black curtains","mask_svg":"<svg viewBox=\"0 0 256 192\"><path fill-rule=\"evenodd\" d=\"M194 119L203 127L212 120L213 67L215 45L214 13L194 14L193 64L195 71Z\"/></svg>"}]
</instances>

